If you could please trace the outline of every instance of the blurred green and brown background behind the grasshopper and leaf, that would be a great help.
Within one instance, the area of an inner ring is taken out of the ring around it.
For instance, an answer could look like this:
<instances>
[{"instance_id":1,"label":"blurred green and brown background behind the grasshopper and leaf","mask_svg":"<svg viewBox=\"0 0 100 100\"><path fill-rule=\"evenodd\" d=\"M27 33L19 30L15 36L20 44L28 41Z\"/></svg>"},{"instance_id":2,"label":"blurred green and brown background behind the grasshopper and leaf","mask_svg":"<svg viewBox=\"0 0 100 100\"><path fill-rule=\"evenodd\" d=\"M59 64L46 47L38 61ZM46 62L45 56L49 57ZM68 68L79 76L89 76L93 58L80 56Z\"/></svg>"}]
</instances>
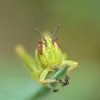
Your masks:
<instances>
[{"instance_id":1,"label":"blurred green and brown background behind the grasshopper and leaf","mask_svg":"<svg viewBox=\"0 0 100 100\"><path fill-rule=\"evenodd\" d=\"M0 0L0 100L30 100L34 82L14 52L23 44L34 56L41 37L38 28L53 34L69 59L79 62L70 84L39 100L100 100L99 0ZM31 99L32 100L32 99Z\"/></svg>"}]
</instances>

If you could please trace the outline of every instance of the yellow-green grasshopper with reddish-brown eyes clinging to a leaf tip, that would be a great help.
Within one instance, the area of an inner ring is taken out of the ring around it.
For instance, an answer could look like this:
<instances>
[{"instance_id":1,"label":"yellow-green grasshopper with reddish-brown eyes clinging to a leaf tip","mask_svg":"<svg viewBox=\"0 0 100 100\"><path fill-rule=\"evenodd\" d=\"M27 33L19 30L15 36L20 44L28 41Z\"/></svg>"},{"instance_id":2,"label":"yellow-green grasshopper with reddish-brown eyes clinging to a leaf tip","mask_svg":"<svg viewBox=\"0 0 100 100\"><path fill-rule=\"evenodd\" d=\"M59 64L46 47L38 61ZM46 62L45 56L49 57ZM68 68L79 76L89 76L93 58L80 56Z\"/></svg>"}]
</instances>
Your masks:
<instances>
[{"instance_id":1,"label":"yellow-green grasshopper with reddish-brown eyes clinging to a leaf tip","mask_svg":"<svg viewBox=\"0 0 100 100\"><path fill-rule=\"evenodd\" d=\"M55 37L60 25L58 25L52 36L43 36L43 34L36 29L36 32L40 34L42 39L38 42L35 59L33 59L22 46L16 47L16 52L27 65L31 71L31 76L33 79L39 81L41 84L56 92L49 83L60 83L63 86L69 84L68 72L78 66L78 62L67 60L64 53L61 52L60 42ZM47 78L48 74L51 72L56 72L60 70L64 65L68 65L68 70L65 75L65 81L58 79Z\"/></svg>"}]
</instances>

